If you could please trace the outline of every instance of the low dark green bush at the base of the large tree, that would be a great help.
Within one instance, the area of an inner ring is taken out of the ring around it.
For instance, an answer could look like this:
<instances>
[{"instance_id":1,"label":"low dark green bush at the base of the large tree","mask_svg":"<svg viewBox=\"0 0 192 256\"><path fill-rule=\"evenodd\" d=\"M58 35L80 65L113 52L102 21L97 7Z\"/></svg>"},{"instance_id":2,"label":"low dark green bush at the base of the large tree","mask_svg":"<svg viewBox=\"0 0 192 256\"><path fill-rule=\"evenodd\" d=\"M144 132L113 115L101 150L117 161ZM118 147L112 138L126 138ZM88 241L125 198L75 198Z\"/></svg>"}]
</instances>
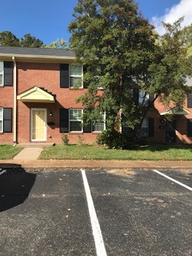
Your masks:
<instances>
[{"instance_id":1,"label":"low dark green bush at the base of the large tree","mask_svg":"<svg viewBox=\"0 0 192 256\"><path fill-rule=\"evenodd\" d=\"M109 148L126 150L133 146L134 138L129 134L120 134L116 130L104 130L99 134L96 143Z\"/></svg>"}]
</instances>

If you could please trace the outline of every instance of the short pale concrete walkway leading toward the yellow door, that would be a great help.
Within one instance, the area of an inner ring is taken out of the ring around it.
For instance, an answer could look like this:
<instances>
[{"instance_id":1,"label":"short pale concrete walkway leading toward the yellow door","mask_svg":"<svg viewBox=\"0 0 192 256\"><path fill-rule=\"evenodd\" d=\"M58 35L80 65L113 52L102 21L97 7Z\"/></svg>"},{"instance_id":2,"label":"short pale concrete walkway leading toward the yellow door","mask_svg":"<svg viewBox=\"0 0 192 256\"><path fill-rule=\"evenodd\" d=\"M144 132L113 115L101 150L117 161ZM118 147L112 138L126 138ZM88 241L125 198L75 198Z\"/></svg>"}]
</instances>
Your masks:
<instances>
[{"instance_id":1,"label":"short pale concrete walkway leading toward the yellow door","mask_svg":"<svg viewBox=\"0 0 192 256\"><path fill-rule=\"evenodd\" d=\"M42 150L42 147L26 147L14 157L14 160L37 160Z\"/></svg>"}]
</instances>

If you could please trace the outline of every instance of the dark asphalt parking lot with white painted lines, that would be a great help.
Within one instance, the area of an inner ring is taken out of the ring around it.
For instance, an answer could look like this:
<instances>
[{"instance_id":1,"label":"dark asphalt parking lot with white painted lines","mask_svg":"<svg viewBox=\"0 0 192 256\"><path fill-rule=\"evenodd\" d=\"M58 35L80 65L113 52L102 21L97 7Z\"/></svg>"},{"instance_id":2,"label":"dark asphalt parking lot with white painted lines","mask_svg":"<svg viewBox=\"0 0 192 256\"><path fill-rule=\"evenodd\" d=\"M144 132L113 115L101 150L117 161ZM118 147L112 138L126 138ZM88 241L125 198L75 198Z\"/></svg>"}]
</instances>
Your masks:
<instances>
[{"instance_id":1,"label":"dark asphalt parking lot with white painted lines","mask_svg":"<svg viewBox=\"0 0 192 256\"><path fill-rule=\"evenodd\" d=\"M192 255L192 170L158 171L0 170L0 255Z\"/></svg>"}]
</instances>

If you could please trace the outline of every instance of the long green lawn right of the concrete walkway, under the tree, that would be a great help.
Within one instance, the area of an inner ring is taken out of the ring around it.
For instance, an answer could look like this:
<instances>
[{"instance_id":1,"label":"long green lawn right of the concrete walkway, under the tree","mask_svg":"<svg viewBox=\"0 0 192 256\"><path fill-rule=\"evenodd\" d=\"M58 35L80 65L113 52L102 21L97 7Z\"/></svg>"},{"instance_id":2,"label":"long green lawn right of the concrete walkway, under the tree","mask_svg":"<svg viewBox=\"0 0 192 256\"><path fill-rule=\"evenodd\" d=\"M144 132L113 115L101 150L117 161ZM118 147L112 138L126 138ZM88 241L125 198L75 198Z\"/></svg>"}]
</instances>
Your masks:
<instances>
[{"instance_id":1,"label":"long green lawn right of the concrete walkway, under the tree","mask_svg":"<svg viewBox=\"0 0 192 256\"><path fill-rule=\"evenodd\" d=\"M146 145L133 150L114 150L103 146L56 145L45 148L39 159L192 160L192 147Z\"/></svg>"}]
</instances>

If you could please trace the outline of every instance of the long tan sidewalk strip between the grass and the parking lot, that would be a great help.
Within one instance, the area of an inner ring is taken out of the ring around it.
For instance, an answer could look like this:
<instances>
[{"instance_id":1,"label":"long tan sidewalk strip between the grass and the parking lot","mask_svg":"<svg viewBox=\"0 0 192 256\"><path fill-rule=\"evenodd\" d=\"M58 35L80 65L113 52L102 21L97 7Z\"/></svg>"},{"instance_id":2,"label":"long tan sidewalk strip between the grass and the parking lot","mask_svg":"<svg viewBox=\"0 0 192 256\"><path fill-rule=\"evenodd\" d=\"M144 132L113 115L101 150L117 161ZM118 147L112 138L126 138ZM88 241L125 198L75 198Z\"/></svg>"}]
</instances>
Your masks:
<instances>
[{"instance_id":1,"label":"long tan sidewalk strip between the grass and the parking lot","mask_svg":"<svg viewBox=\"0 0 192 256\"><path fill-rule=\"evenodd\" d=\"M25 169L192 169L192 161L2 160L0 168Z\"/></svg>"}]
</instances>

